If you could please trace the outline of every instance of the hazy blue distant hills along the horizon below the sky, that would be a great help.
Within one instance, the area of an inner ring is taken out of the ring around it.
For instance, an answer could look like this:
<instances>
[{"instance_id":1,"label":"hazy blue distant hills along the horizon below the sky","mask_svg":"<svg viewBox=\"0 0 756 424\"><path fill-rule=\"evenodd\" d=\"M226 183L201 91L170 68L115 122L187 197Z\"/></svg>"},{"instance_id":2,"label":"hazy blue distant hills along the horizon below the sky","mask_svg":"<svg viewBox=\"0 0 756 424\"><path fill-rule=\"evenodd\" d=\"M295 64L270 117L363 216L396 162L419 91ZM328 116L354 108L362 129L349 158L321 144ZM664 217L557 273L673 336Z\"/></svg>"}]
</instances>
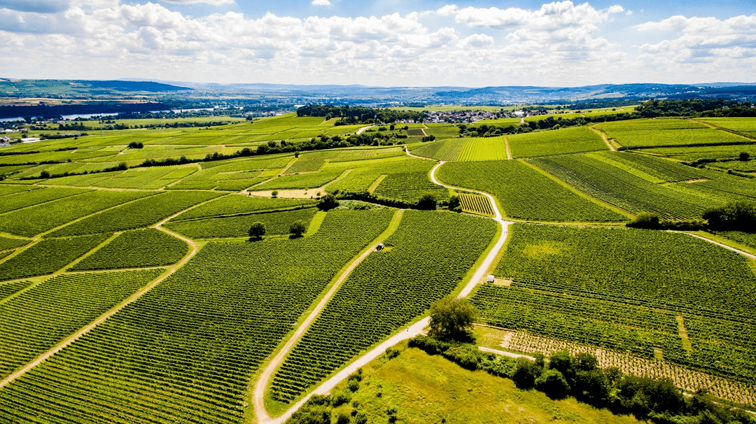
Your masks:
<instances>
[{"instance_id":1,"label":"hazy blue distant hills along the horizon below the sky","mask_svg":"<svg viewBox=\"0 0 756 424\"><path fill-rule=\"evenodd\" d=\"M303 104L538 104L548 102L727 97L756 100L756 83L696 85L602 84L581 87L371 87L366 85L212 84L119 79L114 81L0 79L0 97L118 97L136 94L191 98L259 97L261 101Z\"/></svg>"}]
</instances>

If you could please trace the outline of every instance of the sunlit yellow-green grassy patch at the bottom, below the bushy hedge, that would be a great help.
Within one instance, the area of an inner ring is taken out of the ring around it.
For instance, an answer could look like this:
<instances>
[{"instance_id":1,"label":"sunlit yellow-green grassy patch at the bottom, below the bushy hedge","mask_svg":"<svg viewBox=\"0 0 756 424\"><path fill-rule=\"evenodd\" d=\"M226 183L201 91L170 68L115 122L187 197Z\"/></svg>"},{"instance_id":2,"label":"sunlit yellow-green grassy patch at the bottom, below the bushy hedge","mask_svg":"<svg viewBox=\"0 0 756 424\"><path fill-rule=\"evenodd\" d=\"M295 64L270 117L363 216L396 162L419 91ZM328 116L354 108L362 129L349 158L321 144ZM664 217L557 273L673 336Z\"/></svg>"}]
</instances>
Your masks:
<instances>
[{"instance_id":1,"label":"sunlit yellow-green grassy patch at the bottom, below the bushy hedge","mask_svg":"<svg viewBox=\"0 0 756 424\"><path fill-rule=\"evenodd\" d=\"M351 399L332 410L333 417L364 414L368 422L386 422L387 410L395 407L396 422L531 422L538 423L637 423L632 416L614 416L574 399L553 401L541 392L522 391L510 379L485 371L465 370L441 356L417 348L401 348L389 361L381 357L363 368L363 379L352 393L346 383L332 395ZM450 401L453 400L453 401ZM357 407L352 406L352 402Z\"/></svg>"}]
</instances>

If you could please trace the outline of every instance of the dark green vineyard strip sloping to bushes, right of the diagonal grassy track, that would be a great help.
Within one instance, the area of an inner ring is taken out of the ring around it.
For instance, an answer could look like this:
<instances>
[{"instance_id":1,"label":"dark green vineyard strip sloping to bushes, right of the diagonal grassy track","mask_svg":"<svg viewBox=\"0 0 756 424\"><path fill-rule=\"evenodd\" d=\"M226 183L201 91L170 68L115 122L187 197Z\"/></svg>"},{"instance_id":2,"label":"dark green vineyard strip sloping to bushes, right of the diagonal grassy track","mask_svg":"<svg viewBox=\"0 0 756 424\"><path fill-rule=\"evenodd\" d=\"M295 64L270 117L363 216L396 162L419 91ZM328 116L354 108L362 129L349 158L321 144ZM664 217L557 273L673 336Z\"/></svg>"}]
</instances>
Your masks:
<instances>
[{"instance_id":1,"label":"dark green vineyard strip sloping to bushes, right of the diagonal grassy track","mask_svg":"<svg viewBox=\"0 0 756 424\"><path fill-rule=\"evenodd\" d=\"M700 218L705 209L722 203L704 194L654 184L586 155L553 156L530 162L583 193L633 214L655 212L668 219Z\"/></svg>"}]
</instances>

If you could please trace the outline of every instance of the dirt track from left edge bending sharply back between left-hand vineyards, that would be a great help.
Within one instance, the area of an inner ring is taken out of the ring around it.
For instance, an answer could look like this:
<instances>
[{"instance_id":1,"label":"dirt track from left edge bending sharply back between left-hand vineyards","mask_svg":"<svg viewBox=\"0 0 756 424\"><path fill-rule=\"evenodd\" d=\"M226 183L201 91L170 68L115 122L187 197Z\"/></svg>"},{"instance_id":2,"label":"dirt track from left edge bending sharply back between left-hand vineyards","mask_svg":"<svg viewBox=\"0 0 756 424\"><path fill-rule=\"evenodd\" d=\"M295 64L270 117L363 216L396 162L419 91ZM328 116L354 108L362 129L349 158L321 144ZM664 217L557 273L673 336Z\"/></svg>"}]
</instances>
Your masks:
<instances>
[{"instance_id":1,"label":"dirt track from left edge bending sharply back between left-hand vineyards","mask_svg":"<svg viewBox=\"0 0 756 424\"><path fill-rule=\"evenodd\" d=\"M199 205L196 205L199 206ZM196 207L193 206L193 207ZM184 209L187 210L187 209ZM184 212L184 211L181 211ZM181 213L179 212L179 213ZM178 215L178 214L175 214ZM173 216L169 218L164 219L163 221L160 221L159 224L156 224L155 227L163 231L163 233L169 234L170 236L176 237L180 240L184 240L185 243L187 243L190 246L189 252L187 252L187 255L184 256L184 258L181 259L178 263L173 265L172 267L168 268L168 271L161 275L160 277L157 277L155 280L153 280L151 283L147 284L147 286L142 287L138 292L135 292L132 294L132 296L129 296L128 299L125 299L123 302L119 303L118 305L114 306L113 308L110 308L109 311L105 312L104 314L101 314L97 319L92 321L91 323L88 323L85 325L85 327L80 328L76 333L73 333L71 336L66 337L65 339L61 340L57 345L54 346L54 348L51 348L50 350L46 351L45 353L39 355L36 357L34 361L29 362L29 364L24 365L20 369L14 371L14 373L11 373L9 376L5 377L2 381L0 381L0 388L3 388L5 385L8 385L8 383L13 382L15 379L17 379L20 376L23 376L23 374L26 373L26 371L31 370L32 368L36 367L39 364L42 364L43 361L48 359L48 357L51 357L52 355L56 354L57 352L63 350L68 345L70 345L72 342L74 342L76 339L79 339L79 337L84 336L86 333L89 333L92 329L97 327L100 323L102 323L104 320L107 320L108 318L112 317L114 314L116 314L118 311L120 311L122 308L124 308L126 305L131 304L132 302L135 302L135 300L139 299L144 293L149 292L150 289L153 289L153 287L160 284L163 280L170 277L175 271L178 270L178 268L181 268L186 264L191 258L194 257L194 255L197 254L197 250L199 249L197 247L197 243L194 243L194 241L187 239L186 237L182 237L179 234L175 234L172 231L166 230L163 227L160 227L160 224L163 224L163 222L167 221L168 219L172 218ZM103 246L104 243L101 243L101 246ZM98 247L101 247L98 246ZM95 249L93 249L91 252L94 252ZM69 268L70 266L76 264L76 262L79 262L81 258L77 258L76 261L72 262L71 264L67 265L66 267L62 269ZM62 273L62 271L59 271ZM52 276L54 276L53 274Z\"/></svg>"}]
</instances>

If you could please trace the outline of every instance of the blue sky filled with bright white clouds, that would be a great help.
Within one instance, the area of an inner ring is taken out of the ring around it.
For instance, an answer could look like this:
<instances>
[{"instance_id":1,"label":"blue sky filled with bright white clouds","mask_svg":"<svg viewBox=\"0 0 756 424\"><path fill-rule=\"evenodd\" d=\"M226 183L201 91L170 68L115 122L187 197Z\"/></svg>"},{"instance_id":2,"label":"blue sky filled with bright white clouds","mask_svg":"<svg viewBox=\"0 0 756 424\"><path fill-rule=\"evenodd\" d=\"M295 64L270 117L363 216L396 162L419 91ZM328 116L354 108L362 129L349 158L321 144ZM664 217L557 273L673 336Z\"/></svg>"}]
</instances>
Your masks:
<instances>
[{"instance_id":1,"label":"blue sky filled with bright white clouds","mask_svg":"<svg viewBox=\"0 0 756 424\"><path fill-rule=\"evenodd\" d=\"M0 0L0 77L394 86L756 81L756 0Z\"/></svg>"}]
</instances>

